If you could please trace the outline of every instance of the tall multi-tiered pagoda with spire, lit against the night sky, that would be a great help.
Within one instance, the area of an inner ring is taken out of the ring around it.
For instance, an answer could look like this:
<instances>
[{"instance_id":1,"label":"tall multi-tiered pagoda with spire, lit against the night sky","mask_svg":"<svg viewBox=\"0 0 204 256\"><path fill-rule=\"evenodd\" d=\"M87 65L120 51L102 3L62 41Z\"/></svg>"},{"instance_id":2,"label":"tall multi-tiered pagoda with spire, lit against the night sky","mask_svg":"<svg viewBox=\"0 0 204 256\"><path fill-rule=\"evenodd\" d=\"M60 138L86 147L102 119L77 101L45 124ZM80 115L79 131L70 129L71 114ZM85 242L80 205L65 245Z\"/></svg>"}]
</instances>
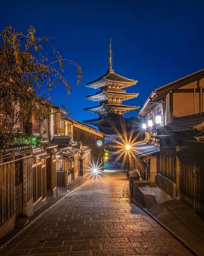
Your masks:
<instances>
[{"instance_id":1,"label":"tall multi-tiered pagoda with spire, lit against the night sky","mask_svg":"<svg viewBox=\"0 0 204 256\"><path fill-rule=\"evenodd\" d=\"M96 113L99 118L84 120L83 122L89 125L95 125L99 131L105 134L114 134L115 127L119 128L119 123L123 118L123 114L139 109L139 106L122 105L122 102L127 99L133 99L139 93L127 93L122 90L137 83L137 80L122 77L112 69L112 49L111 39L109 43L109 69L105 75L99 77L92 82L86 83L86 86L93 89L98 89L96 94L85 96L85 99L98 101L99 106L85 108L85 111Z\"/></svg>"}]
</instances>

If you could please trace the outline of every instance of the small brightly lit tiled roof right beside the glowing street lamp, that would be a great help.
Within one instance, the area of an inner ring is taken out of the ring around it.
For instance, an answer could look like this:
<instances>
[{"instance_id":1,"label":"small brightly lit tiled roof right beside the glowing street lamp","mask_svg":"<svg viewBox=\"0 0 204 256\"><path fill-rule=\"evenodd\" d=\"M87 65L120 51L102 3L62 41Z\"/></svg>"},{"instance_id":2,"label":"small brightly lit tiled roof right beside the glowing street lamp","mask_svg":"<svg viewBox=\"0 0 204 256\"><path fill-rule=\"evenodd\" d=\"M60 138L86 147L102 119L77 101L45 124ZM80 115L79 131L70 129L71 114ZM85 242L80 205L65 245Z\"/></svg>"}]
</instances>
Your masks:
<instances>
[{"instance_id":1,"label":"small brightly lit tiled roof right beside the glowing street lamp","mask_svg":"<svg viewBox=\"0 0 204 256\"><path fill-rule=\"evenodd\" d=\"M132 147L132 150L136 157L144 157L146 155L158 153L160 151L160 147L158 144L149 144L142 141L141 143L135 144Z\"/></svg>"}]
</instances>

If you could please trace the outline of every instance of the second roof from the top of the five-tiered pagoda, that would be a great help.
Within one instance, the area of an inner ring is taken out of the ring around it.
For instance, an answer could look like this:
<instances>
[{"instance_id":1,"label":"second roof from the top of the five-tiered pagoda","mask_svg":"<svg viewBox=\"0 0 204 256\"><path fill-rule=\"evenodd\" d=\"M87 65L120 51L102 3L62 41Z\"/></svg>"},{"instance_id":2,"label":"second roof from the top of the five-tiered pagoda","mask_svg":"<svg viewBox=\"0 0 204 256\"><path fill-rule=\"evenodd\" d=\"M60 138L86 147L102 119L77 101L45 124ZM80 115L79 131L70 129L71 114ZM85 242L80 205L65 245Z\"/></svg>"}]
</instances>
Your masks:
<instances>
[{"instance_id":1,"label":"second roof from the top of the five-tiered pagoda","mask_svg":"<svg viewBox=\"0 0 204 256\"><path fill-rule=\"evenodd\" d=\"M88 95L84 98L90 100L97 100L96 98L99 98L101 96L105 96L105 98L108 98L107 96L116 96L118 98L123 97L132 99L137 97L138 95L139 93L126 93L126 90L103 90L102 92L96 93L94 95Z\"/></svg>"}]
</instances>

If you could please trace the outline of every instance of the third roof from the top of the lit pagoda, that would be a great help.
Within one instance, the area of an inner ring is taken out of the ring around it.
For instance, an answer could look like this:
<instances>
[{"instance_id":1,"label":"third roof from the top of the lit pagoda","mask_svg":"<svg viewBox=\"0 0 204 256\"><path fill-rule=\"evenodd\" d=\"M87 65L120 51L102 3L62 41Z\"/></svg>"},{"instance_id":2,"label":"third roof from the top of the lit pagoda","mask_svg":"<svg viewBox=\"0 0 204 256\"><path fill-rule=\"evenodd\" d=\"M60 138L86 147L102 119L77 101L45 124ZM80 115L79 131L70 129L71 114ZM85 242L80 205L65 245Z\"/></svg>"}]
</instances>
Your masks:
<instances>
[{"instance_id":1,"label":"third roof from the top of the lit pagoda","mask_svg":"<svg viewBox=\"0 0 204 256\"><path fill-rule=\"evenodd\" d=\"M102 104L100 106L85 108L85 111L96 112L96 113L107 113L108 111L112 112L120 112L123 111L129 112L139 109L139 106L127 106L127 105L120 105L120 104Z\"/></svg>"}]
</instances>

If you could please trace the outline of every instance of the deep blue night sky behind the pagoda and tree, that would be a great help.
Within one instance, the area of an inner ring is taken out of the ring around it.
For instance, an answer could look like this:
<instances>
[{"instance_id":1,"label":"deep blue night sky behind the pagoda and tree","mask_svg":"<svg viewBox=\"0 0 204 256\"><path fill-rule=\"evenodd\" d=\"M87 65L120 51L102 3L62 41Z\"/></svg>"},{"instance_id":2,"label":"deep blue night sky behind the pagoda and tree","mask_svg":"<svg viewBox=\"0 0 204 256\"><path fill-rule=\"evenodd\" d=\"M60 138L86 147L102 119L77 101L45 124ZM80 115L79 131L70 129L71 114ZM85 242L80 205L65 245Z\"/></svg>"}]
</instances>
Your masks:
<instances>
[{"instance_id":1,"label":"deep blue night sky behind the pagoda and tree","mask_svg":"<svg viewBox=\"0 0 204 256\"><path fill-rule=\"evenodd\" d=\"M84 84L106 73L110 37L114 71L138 80L127 91L139 96L127 105L142 107L154 88L204 68L203 0L10 0L1 3L0 30L8 25L24 32L32 25L37 36L55 37L62 57L80 64L80 86L76 70L65 70L72 88L68 102L63 86L52 93L54 103L66 105L78 120L97 117L83 111L98 104L83 98L95 93Z\"/></svg>"}]
</instances>

